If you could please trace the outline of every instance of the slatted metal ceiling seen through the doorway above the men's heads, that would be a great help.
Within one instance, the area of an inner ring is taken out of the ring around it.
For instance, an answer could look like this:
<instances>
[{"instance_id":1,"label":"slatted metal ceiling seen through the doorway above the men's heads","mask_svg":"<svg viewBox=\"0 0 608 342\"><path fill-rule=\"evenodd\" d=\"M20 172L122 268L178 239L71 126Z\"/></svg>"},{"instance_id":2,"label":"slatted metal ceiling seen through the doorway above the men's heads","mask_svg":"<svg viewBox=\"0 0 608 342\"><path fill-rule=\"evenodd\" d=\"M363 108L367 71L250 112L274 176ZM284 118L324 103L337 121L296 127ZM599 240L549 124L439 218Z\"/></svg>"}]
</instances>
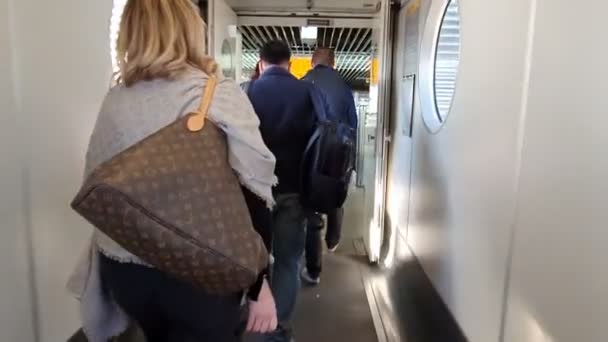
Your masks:
<instances>
[{"instance_id":1,"label":"slatted metal ceiling seen through the doorway above the men's heads","mask_svg":"<svg viewBox=\"0 0 608 342\"><path fill-rule=\"evenodd\" d=\"M302 39L300 27L293 26L240 26L243 36L243 74L253 72L259 50L270 40L289 44L293 55L311 57L317 46L335 50L336 69L355 87L369 83L372 52L371 28L319 27L316 41Z\"/></svg>"}]
</instances>

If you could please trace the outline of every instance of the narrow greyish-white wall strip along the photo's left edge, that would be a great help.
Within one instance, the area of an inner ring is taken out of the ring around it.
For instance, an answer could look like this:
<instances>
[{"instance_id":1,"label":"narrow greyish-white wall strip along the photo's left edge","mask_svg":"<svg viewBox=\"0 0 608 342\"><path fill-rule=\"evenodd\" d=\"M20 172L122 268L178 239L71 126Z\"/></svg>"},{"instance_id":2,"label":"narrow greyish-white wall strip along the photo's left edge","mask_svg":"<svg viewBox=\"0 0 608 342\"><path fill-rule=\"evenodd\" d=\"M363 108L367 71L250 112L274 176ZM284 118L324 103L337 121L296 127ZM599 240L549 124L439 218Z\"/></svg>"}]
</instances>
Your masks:
<instances>
[{"instance_id":1,"label":"narrow greyish-white wall strip along the photo's left edge","mask_svg":"<svg viewBox=\"0 0 608 342\"><path fill-rule=\"evenodd\" d=\"M0 0L0 341L34 341L9 2Z\"/></svg>"}]
</instances>

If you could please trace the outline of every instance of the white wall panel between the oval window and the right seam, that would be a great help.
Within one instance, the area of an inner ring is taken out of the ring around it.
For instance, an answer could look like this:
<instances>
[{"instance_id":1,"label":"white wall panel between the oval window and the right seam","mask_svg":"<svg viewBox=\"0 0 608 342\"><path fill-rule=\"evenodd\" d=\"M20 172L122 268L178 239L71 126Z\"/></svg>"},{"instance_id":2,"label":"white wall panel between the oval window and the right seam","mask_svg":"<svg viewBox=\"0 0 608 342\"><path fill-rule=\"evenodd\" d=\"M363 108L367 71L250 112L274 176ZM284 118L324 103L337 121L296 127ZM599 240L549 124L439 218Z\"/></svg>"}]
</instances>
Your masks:
<instances>
[{"instance_id":1,"label":"white wall panel between the oval window and the right seam","mask_svg":"<svg viewBox=\"0 0 608 342\"><path fill-rule=\"evenodd\" d=\"M408 242L469 340L489 342L500 335L530 1L466 0L460 13L451 113L433 135L416 109Z\"/></svg>"}]
</instances>

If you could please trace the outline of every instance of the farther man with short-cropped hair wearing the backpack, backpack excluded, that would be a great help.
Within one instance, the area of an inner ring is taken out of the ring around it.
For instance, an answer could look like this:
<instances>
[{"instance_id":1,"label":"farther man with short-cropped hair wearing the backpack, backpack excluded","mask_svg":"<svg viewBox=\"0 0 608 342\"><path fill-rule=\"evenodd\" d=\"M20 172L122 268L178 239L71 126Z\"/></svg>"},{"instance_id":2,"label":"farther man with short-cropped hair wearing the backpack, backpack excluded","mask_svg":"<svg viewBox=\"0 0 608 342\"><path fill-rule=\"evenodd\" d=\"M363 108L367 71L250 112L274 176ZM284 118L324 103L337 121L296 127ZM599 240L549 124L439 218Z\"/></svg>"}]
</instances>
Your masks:
<instances>
[{"instance_id":1,"label":"farther man with short-cropped hair wearing the backpack, backpack excluded","mask_svg":"<svg viewBox=\"0 0 608 342\"><path fill-rule=\"evenodd\" d=\"M334 69L335 55L330 48L317 48L312 56L313 69L304 76L324 95L332 120L357 128L357 109L353 92L340 74ZM335 251L340 242L344 209L336 209L327 215L327 232L325 242L330 251ZM319 214L310 213L306 233L306 269L302 270L302 279L309 284L318 284L321 280L323 264L323 244L321 231L323 220Z\"/></svg>"}]
</instances>

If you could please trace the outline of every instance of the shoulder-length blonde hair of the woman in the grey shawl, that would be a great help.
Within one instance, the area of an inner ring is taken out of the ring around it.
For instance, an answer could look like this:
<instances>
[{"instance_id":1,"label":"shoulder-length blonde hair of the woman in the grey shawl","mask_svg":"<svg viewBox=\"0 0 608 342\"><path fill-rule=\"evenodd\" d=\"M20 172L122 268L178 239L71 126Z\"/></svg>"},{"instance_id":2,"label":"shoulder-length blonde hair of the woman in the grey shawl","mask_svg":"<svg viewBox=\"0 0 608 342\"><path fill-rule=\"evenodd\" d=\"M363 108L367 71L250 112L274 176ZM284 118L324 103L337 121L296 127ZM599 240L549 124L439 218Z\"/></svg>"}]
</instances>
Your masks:
<instances>
[{"instance_id":1,"label":"shoulder-length blonde hair of the woman in the grey shawl","mask_svg":"<svg viewBox=\"0 0 608 342\"><path fill-rule=\"evenodd\" d=\"M174 79L191 68L216 74L205 32L191 0L128 0L116 46L119 82Z\"/></svg>"}]
</instances>

